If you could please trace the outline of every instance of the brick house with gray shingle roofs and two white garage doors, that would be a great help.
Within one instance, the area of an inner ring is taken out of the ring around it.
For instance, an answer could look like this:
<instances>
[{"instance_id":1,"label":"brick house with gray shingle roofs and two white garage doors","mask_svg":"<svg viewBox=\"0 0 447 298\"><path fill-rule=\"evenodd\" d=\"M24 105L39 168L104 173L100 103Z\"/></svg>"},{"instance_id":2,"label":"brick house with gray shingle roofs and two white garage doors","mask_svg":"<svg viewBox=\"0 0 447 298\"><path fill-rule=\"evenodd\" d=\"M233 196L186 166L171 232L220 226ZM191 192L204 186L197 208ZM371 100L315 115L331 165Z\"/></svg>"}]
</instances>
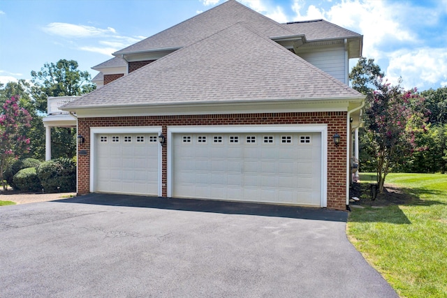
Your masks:
<instances>
[{"instance_id":1,"label":"brick house with gray shingle roofs and two white garage doors","mask_svg":"<svg viewBox=\"0 0 447 298\"><path fill-rule=\"evenodd\" d=\"M78 117L78 193L346 209L362 36L229 0L114 53Z\"/></svg>"}]
</instances>

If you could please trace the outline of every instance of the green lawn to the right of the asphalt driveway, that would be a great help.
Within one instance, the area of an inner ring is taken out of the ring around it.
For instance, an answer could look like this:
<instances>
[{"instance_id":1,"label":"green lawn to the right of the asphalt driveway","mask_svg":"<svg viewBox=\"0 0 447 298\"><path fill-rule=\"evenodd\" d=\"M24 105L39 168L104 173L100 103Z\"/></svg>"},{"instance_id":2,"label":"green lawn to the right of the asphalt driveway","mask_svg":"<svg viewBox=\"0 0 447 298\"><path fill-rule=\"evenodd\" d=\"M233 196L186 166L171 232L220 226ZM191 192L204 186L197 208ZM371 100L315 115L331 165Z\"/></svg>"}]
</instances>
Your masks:
<instances>
[{"instance_id":1,"label":"green lawn to the right of the asphalt driveway","mask_svg":"<svg viewBox=\"0 0 447 298\"><path fill-rule=\"evenodd\" d=\"M447 297L447 174L389 174L386 184L406 200L353 209L349 239L400 297Z\"/></svg>"}]
</instances>

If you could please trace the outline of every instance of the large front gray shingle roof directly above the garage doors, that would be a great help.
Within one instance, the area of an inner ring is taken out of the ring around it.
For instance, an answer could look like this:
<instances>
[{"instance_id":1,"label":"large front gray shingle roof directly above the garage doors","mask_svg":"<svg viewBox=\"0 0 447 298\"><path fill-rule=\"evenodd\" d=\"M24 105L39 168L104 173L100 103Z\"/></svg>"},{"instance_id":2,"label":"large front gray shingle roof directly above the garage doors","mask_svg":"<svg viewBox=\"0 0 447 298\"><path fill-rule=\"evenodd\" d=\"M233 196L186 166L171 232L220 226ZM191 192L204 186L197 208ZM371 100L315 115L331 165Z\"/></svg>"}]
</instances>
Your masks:
<instances>
[{"instance_id":1,"label":"large front gray shingle roof directly above the garage doors","mask_svg":"<svg viewBox=\"0 0 447 298\"><path fill-rule=\"evenodd\" d=\"M64 108L358 96L346 84L238 23Z\"/></svg>"}]
</instances>

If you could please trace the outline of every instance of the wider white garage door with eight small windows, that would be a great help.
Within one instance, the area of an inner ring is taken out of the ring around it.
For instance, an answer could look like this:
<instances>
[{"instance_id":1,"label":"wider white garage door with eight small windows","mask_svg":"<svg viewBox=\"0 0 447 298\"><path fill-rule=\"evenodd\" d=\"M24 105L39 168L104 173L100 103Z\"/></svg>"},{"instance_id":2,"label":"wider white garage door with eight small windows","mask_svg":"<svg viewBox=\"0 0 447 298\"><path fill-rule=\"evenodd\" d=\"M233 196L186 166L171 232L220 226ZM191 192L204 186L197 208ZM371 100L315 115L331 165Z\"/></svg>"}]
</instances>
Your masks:
<instances>
[{"instance_id":1,"label":"wider white garage door with eight small windows","mask_svg":"<svg viewBox=\"0 0 447 298\"><path fill-rule=\"evenodd\" d=\"M321 133L173 133L172 195L322 206Z\"/></svg>"}]
</instances>

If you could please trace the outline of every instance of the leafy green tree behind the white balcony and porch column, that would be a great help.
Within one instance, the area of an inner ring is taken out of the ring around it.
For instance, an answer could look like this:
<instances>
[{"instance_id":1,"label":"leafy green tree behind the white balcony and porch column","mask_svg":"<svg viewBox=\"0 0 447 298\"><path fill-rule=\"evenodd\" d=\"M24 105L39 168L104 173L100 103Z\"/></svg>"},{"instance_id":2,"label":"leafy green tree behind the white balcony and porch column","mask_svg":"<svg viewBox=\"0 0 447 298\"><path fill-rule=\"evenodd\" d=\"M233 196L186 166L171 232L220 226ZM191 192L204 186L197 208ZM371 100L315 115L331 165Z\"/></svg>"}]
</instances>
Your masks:
<instances>
[{"instance_id":1,"label":"leafy green tree behind the white balcony and porch column","mask_svg":"<svg viewBox=\"0 0 447 298\"><path fill-rule=\"evenodd\" d=\"M46 63L40 71L31 71L31 95L36 100L36 107L41 112L47 110L49 96L80 96L96 88L90 82L87 71L78 70L78 62L61 59ZM72 158L76 154L76 131L72 128L52 128L52 155Z\"/></svg>"}]
</instances>

